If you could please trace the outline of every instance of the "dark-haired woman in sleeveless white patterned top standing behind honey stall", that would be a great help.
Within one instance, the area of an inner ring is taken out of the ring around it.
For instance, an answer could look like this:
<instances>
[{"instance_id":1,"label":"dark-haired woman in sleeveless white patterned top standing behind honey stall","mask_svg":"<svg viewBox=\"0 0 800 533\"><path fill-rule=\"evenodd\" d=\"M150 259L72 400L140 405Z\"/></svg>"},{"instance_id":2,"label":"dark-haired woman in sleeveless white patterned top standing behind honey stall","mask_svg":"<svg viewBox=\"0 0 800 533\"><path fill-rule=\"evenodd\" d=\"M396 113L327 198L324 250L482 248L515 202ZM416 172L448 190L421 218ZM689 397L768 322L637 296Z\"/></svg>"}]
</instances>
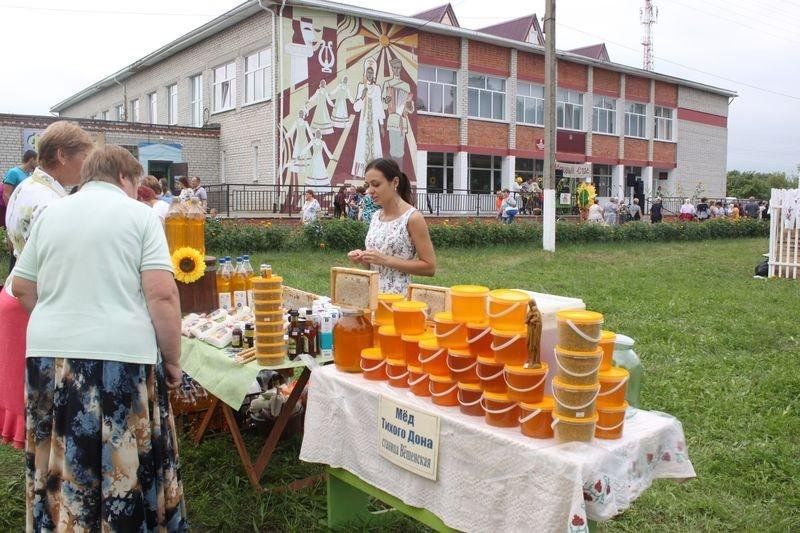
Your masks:
<instances>
[{"instance_id":1,"label":"dark-haired woman in sleeveless white patterned top standing behind honey stall","mask_svg":"<svg viewBox=\"0 0 800 533\"><path fill-rule=\"evenodd\" d=\"M365 250L347 254L351 261L379 273L380 292L405 294L408 276L433 276L436 254L422 213L412 205L411 182L391 159L366 167L367 194L380 206L372 216Z\"/></svg>"}]
</instances>

